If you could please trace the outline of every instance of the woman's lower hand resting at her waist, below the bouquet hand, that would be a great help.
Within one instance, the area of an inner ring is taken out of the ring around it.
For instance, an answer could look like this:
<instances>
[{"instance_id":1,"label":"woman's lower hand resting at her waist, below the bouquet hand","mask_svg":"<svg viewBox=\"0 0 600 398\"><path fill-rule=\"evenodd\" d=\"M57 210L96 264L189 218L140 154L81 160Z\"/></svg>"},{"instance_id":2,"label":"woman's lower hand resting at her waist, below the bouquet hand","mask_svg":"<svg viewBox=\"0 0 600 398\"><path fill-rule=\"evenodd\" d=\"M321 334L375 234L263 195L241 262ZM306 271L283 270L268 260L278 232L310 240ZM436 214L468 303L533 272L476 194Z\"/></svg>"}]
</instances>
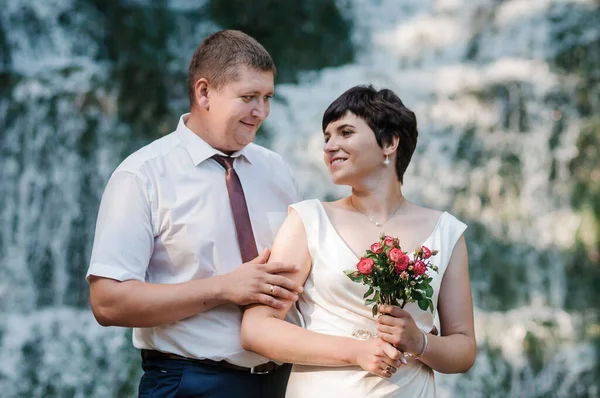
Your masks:
<instances>
[{"instance_id":1,"label":"woman's lower hand resting at her waist, below the bouquet hand","mask_svg":"<svg viewBox=\"0 0 600 398\"><path fill-rule=\"evenodd\" d=\"M402 354L379 338L359 341L357 346L355 362L369 373L389 379L402 364Z\"/></svg>"}]
</instances>

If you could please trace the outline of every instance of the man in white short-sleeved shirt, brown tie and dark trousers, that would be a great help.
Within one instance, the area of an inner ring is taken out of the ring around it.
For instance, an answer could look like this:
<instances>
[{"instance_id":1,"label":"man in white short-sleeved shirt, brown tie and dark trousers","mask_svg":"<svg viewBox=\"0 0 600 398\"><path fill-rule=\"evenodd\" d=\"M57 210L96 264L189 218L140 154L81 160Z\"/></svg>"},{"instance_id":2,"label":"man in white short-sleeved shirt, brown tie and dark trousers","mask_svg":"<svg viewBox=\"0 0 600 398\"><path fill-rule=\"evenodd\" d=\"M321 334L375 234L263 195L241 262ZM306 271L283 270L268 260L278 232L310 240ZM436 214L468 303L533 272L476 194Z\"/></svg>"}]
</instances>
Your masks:
<instances>
[{"instance_id":1,"label":"man in white short-sleeved shirt, brown tie and dark trousers","mask_svg":"<svg viewBox=\"0 0 600 398\"><path fill-rule=\"evenodd\" d=\"M252 143L269 115L275 71L246 34L210 35L190 63L190 113L108 182L90 302L101 325L134 328L140 396L284 394L289 368L240 345L242 306L280 307L302 291L278 275L295 265L266 264L296 201L286 163Z\"/></svg>"}]
</instances>

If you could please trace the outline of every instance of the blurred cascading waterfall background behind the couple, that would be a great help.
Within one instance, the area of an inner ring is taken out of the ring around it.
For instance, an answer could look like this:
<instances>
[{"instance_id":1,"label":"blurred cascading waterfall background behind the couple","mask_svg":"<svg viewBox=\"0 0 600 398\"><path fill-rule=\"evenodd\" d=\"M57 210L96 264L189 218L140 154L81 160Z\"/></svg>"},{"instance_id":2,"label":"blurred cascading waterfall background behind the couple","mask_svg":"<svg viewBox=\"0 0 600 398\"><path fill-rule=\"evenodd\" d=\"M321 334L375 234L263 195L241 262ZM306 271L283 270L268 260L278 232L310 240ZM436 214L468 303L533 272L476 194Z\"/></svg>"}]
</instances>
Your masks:
<instances>
[{"instance_id":1,"label":"blurred cascading waterfall background behind the couple","mask_svg":"<svg viewBox=\"0 0 600 398\"><path fill-rule=\"evenodd\" d=\"M444 397L600 396L600 1L0 0L0 395L134 397L131 332L84 276L104 186L187 112L208 33L278 66L258 142L334 199L321 116L391 88L419 120L405 194L463 221L479 352ZM123 198L127 200L127 198Z\"/></svg>"}]
</instances>

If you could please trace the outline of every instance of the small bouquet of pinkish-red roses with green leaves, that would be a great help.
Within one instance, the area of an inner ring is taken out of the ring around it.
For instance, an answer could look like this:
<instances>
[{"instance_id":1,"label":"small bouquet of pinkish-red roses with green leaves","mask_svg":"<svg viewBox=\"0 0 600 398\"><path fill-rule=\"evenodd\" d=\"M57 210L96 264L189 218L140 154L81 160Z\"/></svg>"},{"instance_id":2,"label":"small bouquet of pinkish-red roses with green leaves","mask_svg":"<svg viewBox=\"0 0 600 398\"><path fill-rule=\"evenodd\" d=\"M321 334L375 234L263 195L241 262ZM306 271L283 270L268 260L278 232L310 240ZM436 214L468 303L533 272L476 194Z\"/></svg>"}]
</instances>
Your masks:
<instances>
[{"instance_id":1,"label":"small bouquet of pinkish-red roses with green leaves","mask_svg":"<svg viewBox=\"0 0 600 398\"><path fill-rule=\"evenodd\" d=\"M417 302L423 311L429 309L433 313L430 284L433 278L428 271L438 271L438 267L430 262L437 253L437 250L421 246L414 251L411 260L408 252L402 251L397 238L382 234L356 264L356 269L344 273L352 281L369 286L363 297L367 299L365 305L373 304L373 316L377 315L379 304L404 308L411 302Z\"/></svg>"}]
</instances>

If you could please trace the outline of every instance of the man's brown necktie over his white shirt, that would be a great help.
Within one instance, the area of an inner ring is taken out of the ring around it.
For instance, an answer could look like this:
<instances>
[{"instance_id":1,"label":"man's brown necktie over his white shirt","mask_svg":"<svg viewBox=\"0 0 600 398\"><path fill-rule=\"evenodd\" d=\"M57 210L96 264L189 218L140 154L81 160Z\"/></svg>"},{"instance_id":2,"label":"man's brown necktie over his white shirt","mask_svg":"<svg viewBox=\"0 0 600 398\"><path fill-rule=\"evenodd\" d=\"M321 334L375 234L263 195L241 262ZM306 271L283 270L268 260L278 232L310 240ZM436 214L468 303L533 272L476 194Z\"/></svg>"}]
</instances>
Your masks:
<instances>
[{"instance_id":1,"label":"man's brown necktie over his white shirt","mask_svg":"<svg viewBox=\"0 0 600 398\"><path fill-rule=\"evenodd\" d=\"M250 223L250 215L248 214L248 206L246 205L242 183L233 168L234 158L221 155L214 155L212 158L226 170L225 183L227 185L227 193L229 194L231 212L233 213L235 232L238 238L238 245L240 246L240 253L242 254L242 261L247 263L258 256L258 250L256 250L256 241L252 232L252 224Z\"/></svg>"}]
</instances>

